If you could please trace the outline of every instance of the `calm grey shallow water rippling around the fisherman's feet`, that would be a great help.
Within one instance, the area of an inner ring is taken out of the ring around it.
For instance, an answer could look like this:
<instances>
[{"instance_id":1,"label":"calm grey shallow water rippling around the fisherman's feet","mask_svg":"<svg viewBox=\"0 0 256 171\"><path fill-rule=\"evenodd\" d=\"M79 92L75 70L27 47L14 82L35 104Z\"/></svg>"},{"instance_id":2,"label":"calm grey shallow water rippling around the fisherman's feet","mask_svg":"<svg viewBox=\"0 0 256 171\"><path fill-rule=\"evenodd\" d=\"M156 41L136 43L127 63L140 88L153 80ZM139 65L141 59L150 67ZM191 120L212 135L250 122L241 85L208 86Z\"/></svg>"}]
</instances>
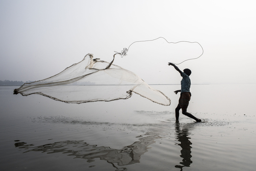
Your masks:
<instances>
[{"instance_id":1,"label":"calm grey shallow water rippling around the fisherman's feet","mask_svg":"<svg viewBox=\"0 0 256 171\"><path fill-rule=\"evenodd\" d=\"M152 85L161 106L127 100L67 104L0 87L0 170L254 171L255 84L192 85L187 109L174 109L180 85Z\"/></svg>"}]
</instances>

